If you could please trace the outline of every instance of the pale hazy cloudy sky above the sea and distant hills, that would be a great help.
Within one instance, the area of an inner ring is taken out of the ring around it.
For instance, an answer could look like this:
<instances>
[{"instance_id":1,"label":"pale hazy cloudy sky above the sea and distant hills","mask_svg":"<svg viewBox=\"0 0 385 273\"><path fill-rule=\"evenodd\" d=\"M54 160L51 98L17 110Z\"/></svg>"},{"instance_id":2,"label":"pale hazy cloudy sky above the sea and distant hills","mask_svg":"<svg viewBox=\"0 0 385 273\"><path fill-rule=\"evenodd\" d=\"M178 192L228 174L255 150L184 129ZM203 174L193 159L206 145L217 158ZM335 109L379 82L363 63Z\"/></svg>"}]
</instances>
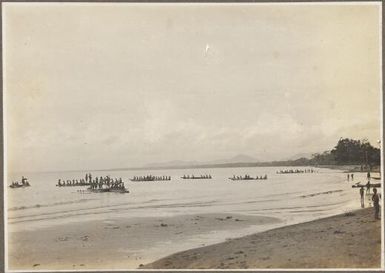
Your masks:
<instances>
[{"instance_id":1,"label":"pale hazy cloudy sky above the sea and distant hills","mask_svg":"<svg viewBox=\"0 0 385 273\"><path fill-rule=\"evenodd\" d=\"M3 3L9 170L381 138L380 4Z\"/></svg>"}]
</instances>

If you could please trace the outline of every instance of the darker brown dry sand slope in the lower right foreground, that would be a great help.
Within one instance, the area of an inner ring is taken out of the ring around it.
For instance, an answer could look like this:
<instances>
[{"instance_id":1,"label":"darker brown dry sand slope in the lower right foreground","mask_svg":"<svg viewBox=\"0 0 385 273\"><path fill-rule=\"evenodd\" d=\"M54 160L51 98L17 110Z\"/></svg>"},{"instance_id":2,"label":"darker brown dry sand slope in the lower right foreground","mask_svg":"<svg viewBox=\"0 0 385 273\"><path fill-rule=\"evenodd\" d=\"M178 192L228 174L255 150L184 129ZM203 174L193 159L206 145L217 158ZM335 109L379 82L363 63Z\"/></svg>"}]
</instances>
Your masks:
<instances>
[{"instance_id":1,"label":"darker brown dry sand slope in the lower right foreground","mask_svg":"<svg viewBox=\"0 0 385 273\"><path fill-rule=\"evenodd\" d=\"M173 254L146 269L380 268L373 208L286 226Z\"/></svg>"}]
</instances>

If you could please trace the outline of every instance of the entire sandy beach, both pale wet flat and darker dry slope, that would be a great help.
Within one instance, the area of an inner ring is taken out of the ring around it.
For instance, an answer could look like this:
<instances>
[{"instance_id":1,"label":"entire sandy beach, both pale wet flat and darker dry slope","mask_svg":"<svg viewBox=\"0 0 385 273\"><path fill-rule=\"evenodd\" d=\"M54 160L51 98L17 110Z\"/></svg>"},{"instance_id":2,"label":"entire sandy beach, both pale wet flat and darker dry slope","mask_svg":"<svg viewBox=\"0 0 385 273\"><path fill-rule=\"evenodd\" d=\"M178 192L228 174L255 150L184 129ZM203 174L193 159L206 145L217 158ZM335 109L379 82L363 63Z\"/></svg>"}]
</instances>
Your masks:
<instances>
[{"instance_id":1,"label":"entire sandy beach, both pale wet flat and darker dry slope","mask_svg":"<svg viewBox=\"0 0 385 273\"><path fill-rule=\"evenodd\" d=\"M10 269L378 268L381 221L373 208L187 249L186 238L221 230L282 224L230 214L68 223L11 232ZM151 252L154 244L164 251ZM140 249L146 249L145 252ZM172 254L176 253L176 254ZM172 254L172 255L170 255ZM167 256L170 255L170 256ZM159 259L167 256L166 258ZM154 260L159 259L155 262Z\"/></svg>"}]
</instances>

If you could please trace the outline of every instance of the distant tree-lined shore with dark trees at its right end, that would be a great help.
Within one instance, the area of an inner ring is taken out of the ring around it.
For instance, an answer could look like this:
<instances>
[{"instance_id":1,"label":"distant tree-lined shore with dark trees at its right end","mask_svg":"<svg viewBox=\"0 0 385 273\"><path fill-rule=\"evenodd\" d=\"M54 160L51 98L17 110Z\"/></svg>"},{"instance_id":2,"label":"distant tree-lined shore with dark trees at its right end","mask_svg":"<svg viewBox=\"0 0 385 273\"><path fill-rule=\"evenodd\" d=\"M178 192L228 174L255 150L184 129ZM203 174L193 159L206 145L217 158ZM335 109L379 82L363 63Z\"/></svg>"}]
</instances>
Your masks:
<instances>
[{"instance_id":1,"label":"distant tree-lined shore with dark trees at its right end","mask_svg":"<svg viewBox=\"0 0 385 273\"><path fill-rule=\"evenodd\" d=\"M354 166L355 170L366 171L380 165L380 149L373 147L368 140L341 138L331 151L315 153L311 158L282 160L270 162L236 162L219 164L193 164L181 166L159 166L140 168L119 168L109 170L164 170L164 169L193 169L193 168L237 168L237 167L278 167L278 166L314 166L338 167ZM358 166L358 169L357 169Z\"/></svg>"}]
</instances>

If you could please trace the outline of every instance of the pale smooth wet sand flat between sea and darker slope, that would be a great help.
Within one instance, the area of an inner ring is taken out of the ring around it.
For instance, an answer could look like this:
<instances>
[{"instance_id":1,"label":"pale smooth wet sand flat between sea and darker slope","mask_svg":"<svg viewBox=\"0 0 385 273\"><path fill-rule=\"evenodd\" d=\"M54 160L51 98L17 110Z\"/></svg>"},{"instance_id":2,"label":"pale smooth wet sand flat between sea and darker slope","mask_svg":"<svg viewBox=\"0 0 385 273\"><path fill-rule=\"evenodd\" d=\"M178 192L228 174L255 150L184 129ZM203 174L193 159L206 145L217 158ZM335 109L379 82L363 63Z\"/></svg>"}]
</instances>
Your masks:
<instances>
[{"instance_id":1,"label":"pale smooth wet sand flat between sea and darker slope","mask_svg":"<svg viewBox=\"0 0 385 273\"><path fill-rule=\"evenodd\" d=\"M200 214L117 218L9 232L9 269L135 269L202 246L201 236L209 238L207 243L221 242L220 231L275 224L282 223L263 216ZM12 231L12 225L9 228Z\"/></svg>"}]
</instances>

